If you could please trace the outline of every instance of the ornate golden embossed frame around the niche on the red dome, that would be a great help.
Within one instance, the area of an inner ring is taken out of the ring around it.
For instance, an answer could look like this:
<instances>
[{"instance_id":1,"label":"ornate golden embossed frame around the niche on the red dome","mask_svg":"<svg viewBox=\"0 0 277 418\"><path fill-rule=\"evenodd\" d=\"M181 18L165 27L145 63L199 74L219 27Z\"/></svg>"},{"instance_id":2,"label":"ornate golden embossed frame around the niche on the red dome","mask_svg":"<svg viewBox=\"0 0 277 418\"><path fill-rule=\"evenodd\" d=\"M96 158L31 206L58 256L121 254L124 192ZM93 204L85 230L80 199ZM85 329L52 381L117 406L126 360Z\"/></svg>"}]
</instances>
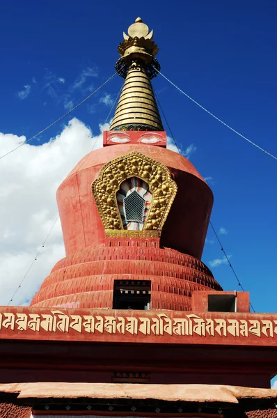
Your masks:
<instances>
[{"instance_id":1,"label":"ornate golden embossed frame around the niche on the red dome","mask_svg":"<svg viewBox=\"0 0 277 418\"><path fill-rule=\"evenodd\" d=\"M141 231L123 229L116 199L120 184L134 176L148 183L152 193L151 206ZM168 168L138 151L107 162L91 189L108 237L158 237L177 193L177 185Z\"/></svg>"}]
</instances>

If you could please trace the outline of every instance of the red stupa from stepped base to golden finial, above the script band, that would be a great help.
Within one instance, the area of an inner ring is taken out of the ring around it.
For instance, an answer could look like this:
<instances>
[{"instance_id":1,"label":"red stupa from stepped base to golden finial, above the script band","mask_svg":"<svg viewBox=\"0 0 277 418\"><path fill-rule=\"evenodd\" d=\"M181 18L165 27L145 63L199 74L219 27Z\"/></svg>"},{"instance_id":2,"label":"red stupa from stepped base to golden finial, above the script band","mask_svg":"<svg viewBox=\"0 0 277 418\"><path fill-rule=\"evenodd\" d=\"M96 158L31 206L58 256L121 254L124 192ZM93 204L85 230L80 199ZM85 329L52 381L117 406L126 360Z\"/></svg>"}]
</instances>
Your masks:
<instances>
[{"instance_id":1,"label":"red stupa from stepped base to golden finial, above the script band","mask_svg":"<svg viewBox=\"0 0 277 418\"><path fill-rule=\"evenodd\" d=\"M212 191L189 160L166 149L150 83L159 64L148 26L137 20L118 50L117 69L125 84L111 131L104 132L104 148L86 155L58 187L66 258L55 265L31 306L118 308L114 283L132 280L136 289L149 282L149 309L189 311L193 291L222 290L200 261ZM137 192L145 213L128 222L128 206L116 194L127 202ZM106 207L113 215L104 212ZM134 295L126 303L136 300L139 306Z\"/></svg>"}]
</instances>

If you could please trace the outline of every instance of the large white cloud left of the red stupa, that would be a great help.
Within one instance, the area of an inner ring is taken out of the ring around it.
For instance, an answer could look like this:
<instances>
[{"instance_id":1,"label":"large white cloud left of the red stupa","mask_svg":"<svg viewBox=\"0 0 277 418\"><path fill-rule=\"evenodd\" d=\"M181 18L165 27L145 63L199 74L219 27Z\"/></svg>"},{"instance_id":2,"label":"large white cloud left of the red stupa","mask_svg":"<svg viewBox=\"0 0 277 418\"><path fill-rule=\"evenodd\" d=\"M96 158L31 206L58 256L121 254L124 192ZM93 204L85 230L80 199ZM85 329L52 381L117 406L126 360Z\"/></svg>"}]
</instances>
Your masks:
<instances>
[{"instance_id":1,"label":"large white cloud left of the red stupa","mask_svg":"<svg viewBox=\"0 0 277 418\"><path fill-rule=\"evenodd\" d=\"M1 155L24 140L0 133ZM41 146L24 144L0 160L0 304L8 304L54 224L58 185L93 144L95 149L102 146L102 134L92 137L90 129L73 118L51 141ZM29 304L63 256L61 224L57 222L11 304Z\"/></svg>"}]
</instances>

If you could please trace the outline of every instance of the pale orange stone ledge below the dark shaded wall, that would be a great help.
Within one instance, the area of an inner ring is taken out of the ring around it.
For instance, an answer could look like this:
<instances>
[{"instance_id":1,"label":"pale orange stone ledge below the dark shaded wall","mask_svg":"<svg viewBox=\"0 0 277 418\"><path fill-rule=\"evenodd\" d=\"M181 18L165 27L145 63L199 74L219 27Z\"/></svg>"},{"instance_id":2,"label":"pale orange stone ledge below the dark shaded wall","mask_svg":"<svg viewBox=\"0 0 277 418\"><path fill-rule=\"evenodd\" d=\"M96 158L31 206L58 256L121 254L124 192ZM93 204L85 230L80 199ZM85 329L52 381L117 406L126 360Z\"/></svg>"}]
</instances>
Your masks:
<instances>
[{"instance_id":1,"label":"pale orange stone ledge below the dark shaded wall","mask_svg":"<svg viewBox=\"0 0 277 418\"><path fill-rule=\"evenodd\" d=\"M155 399L171 402L239 403L240 399L273 399L277 389L229 385L148 385L129 383L30 382L0 385L1 394L24 398Z\"/></svg>"}]
</instances>

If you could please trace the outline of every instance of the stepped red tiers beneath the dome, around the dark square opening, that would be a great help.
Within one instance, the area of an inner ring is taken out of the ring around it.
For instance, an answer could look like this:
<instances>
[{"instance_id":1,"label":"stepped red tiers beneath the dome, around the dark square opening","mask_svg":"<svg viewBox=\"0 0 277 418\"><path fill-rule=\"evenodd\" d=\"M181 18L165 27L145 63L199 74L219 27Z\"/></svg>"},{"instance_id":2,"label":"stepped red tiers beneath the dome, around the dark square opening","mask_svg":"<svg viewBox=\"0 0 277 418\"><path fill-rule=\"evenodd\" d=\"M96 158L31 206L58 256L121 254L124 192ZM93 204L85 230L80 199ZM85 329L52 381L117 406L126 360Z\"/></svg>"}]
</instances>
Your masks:
<instances>
[{"instance_id":1,"label":"stepped red tiers beneath the dome, around the dark square opening","mask_svg":"<svg viewBox=\"0 0 277 418\"><path fill-rule=\"evenodd\" d=\"M158 238L107 238L58 261L30 306L112 309L114 280L150 280L150 309L189 311L193 291L222 290L198 258Z\"/></svg>"}]
</instances>

